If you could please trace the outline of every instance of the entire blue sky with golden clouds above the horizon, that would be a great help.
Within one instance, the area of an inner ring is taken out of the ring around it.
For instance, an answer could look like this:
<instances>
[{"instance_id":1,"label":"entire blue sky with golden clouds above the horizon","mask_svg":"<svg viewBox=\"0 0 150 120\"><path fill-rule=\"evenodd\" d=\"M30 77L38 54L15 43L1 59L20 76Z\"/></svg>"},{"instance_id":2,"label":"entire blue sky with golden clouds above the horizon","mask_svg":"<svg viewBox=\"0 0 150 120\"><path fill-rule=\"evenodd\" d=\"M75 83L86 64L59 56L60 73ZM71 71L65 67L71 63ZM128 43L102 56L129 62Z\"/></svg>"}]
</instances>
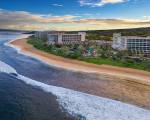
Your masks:
<instances>
[{"instance_id":1,"label":"entire blue sky with golden clouds above the horizon","mask_svg":"<svg viewBox=\"0 0 150 120\"><path fill-rule=\"evenodd\" d=\"M150 27L150 0L0 0L0 28L105 30Z\"/></svg>"}]
</instances>

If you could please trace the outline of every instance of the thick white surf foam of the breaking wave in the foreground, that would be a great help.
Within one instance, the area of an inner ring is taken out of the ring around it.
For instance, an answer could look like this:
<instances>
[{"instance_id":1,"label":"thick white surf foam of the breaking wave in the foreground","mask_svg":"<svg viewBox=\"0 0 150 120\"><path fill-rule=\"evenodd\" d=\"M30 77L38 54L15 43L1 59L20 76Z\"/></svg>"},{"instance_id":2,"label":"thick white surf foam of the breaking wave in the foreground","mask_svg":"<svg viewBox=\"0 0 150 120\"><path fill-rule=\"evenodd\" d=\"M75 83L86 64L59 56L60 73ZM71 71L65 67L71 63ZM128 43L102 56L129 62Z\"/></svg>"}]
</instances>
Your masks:
<instances>
[{"instance_id":1,"label":"thick white surf foam of the breaking wave in the foreground","mask_svg":"<svg viewBox=\"0 0 150 120\"><path fill-rule=\"evenodd\" d=\"M16 72L0 62L3 72ZM72 115L82 115L87 120L150 120L150 110L119 101L102 98L66 88L47 85L18 74L18 79L57 96L59 104ZM44 98L43 98L44 99Z\"/></svg>"}]
</instances>

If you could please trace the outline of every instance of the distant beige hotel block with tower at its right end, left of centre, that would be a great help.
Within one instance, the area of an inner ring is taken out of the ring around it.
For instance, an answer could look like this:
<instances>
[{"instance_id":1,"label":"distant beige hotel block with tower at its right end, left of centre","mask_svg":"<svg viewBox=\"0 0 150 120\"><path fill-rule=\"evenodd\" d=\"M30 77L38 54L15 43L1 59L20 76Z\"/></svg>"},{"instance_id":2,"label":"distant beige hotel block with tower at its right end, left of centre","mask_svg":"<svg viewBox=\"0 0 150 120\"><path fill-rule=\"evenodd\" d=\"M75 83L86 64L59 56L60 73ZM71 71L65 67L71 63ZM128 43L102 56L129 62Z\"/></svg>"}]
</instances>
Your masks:
<instances>
[{"instance_id":1,"label":"distant beige hotel block with tower at its right end, left of centre","mask_svg":"<svg viewBox=\"0 0 150 120\"><path fill-rule=\"evenodd\" d=\"M85 32L79 32L77 34L51 33L48 34L48 44L79 44L85 41L85 37Z\"/></svg>"}]
</instances>

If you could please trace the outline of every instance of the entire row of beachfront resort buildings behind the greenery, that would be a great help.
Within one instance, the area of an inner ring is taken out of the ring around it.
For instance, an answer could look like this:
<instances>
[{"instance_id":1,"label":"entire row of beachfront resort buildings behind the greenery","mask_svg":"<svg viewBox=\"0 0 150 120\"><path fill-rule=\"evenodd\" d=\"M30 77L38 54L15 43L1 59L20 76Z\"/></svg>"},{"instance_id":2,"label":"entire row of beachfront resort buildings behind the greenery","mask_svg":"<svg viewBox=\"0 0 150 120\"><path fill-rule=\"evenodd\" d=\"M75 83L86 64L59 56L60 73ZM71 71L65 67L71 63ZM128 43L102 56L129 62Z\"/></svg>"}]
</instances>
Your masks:
<instances>
[{"instance_id":1,"label":"entire row of beachfront resort buildings behind the greenery","mask_svg":"<svg viewBox=\"0 0 150 120\"><path fill-rule=\"evenodd\" d=\"M107 45L118 51L129 51L135 54L150 54L150 37L122 36L114 33L112 40L88 40L86 32L38 31L35 38L46 42L47 45ZM101 36L101 35L99 35Z\"/></svg>"}]
</instances>

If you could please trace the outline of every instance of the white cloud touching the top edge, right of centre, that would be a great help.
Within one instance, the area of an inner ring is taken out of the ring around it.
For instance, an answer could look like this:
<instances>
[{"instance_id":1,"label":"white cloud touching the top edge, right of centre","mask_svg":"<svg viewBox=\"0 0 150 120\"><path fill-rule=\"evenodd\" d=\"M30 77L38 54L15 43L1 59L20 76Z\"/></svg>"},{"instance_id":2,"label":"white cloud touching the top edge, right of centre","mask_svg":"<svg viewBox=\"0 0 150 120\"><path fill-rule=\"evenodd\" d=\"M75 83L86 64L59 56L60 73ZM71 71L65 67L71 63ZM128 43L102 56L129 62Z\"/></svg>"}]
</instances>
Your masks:
<instances>
[{"instance_id":1,"label":"white cloud touching the top edge, right of centre","mask_svg":"<svg viewBox=\"0 0 150 120\"><path fill-rule=\"evenodd\" d=\"M79 0L81 6L100 7L106 4L117 4L127 2L129 0Z\"/></svg>"}]
</instances>

